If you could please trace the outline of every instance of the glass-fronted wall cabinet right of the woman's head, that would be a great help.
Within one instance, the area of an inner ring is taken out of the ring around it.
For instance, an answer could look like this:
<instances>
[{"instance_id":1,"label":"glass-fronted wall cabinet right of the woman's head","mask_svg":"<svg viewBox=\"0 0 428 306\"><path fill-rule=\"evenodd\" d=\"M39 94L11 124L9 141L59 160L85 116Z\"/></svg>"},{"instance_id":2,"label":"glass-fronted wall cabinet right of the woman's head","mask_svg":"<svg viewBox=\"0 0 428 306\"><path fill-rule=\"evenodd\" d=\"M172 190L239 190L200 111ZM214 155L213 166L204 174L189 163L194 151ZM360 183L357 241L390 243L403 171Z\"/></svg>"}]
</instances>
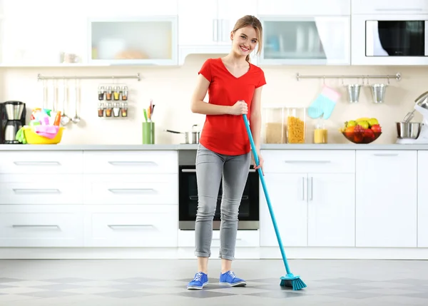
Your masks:
<instances>
[{"instance_id":1,"label":"glass-fronted wall cabinet right of the woman's head","mask_svg":"<svg viewBox=\"0 0 428 306\"><path fill-rule=\"evenodd\" d=\"M260 64L349 65L349 17L262 17Z\"/></svg>"}]
</instances>

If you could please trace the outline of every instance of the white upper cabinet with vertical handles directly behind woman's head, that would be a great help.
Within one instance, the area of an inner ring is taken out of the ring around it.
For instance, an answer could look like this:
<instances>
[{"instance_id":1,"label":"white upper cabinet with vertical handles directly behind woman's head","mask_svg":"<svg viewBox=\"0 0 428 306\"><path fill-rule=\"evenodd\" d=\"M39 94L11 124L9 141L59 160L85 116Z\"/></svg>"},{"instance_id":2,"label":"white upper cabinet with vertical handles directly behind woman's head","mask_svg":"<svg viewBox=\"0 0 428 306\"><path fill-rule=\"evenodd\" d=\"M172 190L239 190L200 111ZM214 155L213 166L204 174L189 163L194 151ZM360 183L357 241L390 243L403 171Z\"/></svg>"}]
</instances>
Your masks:
<instances>
[{"instance_id":1,"label":"white upper cabinet with vertical handles directly behind woman's head","mask_svg":"<svg viewBox=\"0 0 428 306\"><path fill-rule=\"evenodd\" d=\"M229 53L235 22L256 13L257 0L178 0L179 64L191 53Z\"/></svg>"}]
</instances>

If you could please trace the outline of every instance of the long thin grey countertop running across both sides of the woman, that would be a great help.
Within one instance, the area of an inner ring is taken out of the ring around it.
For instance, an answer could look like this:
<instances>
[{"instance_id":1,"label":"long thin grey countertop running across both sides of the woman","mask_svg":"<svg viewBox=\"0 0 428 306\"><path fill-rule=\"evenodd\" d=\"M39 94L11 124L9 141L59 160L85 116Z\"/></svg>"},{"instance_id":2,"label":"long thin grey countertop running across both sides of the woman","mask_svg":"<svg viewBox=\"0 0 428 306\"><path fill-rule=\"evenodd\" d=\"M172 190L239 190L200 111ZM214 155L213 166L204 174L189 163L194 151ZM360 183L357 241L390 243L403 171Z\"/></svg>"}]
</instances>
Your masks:
<instances>
[{"instance_id":1,"label":"long thin grey countertop running across both sides of the woman","mask_svg":"<svg viewBox=\"0 0 428 306\"><path fill-rule=\"evenodd\" d=\"M178 151L196 150L198 145L0 145L0 151ZM263 150L428 150L428 144L263 144Z\"/></svg>"}]
</instances>

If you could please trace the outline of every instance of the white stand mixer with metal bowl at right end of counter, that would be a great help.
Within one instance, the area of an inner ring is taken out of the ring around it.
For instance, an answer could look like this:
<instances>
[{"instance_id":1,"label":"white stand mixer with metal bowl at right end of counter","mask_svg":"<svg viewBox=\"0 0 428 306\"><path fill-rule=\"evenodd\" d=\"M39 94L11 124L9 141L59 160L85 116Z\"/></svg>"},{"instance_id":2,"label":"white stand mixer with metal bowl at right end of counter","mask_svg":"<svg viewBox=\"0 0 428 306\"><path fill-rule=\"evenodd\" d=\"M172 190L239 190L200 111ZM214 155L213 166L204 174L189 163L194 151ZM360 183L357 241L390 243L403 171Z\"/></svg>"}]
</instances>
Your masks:
<instances>
[{"instance_id":1,"label":"white stand mixer with metal bowl at right end of counter","mask_svg":"<svg viewBox=\"0 0 428 306\"><path fill-rule=\"evenodd\" d=\"M428 143L428 91L422 93L414 101L414 110L407 113L402 122L397 122L397 143L427 144ZM410 122L414 112L422 114L422 123Z\"/></svg>"}]
</instances>

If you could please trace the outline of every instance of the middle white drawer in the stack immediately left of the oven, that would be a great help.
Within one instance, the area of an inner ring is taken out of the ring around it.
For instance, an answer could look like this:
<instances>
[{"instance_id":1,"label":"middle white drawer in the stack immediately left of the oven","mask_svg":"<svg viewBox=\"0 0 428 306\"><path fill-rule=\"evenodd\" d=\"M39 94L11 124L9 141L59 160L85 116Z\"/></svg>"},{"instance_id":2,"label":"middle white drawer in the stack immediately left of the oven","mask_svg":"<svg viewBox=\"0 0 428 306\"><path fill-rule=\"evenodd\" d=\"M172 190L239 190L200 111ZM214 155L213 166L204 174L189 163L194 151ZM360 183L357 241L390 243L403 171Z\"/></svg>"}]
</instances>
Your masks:
<instances>
[{"instance_id":1,"label":"middle white drawer in the stack immediately left of the oven","mask_svg":"<svg viewBox=\"0 0 428 306\"><path fill-rule=\"evenodd\" d=\"M85 175L86 204L178 205L178 175Z\"/></svg>"}]
</instances>

